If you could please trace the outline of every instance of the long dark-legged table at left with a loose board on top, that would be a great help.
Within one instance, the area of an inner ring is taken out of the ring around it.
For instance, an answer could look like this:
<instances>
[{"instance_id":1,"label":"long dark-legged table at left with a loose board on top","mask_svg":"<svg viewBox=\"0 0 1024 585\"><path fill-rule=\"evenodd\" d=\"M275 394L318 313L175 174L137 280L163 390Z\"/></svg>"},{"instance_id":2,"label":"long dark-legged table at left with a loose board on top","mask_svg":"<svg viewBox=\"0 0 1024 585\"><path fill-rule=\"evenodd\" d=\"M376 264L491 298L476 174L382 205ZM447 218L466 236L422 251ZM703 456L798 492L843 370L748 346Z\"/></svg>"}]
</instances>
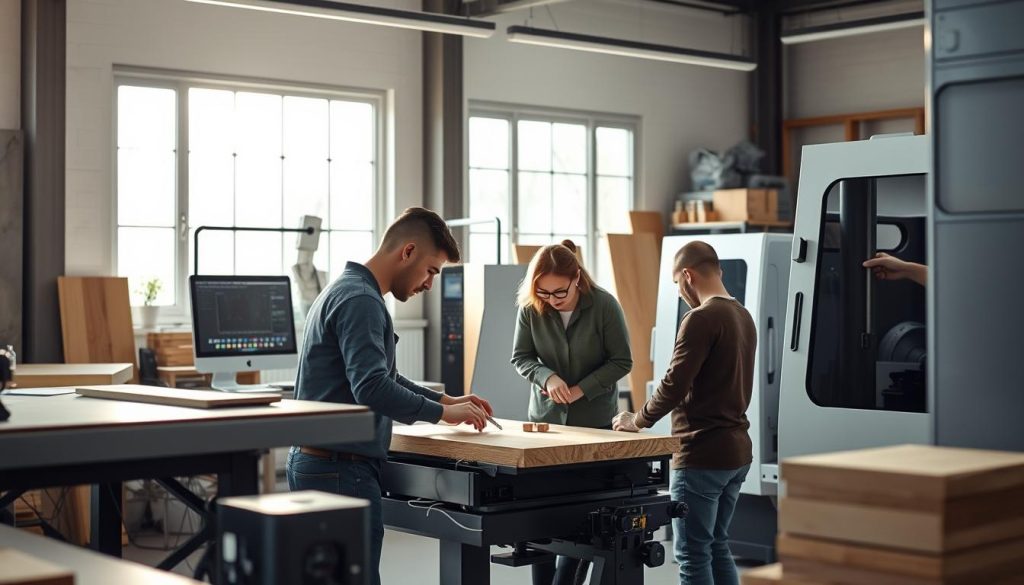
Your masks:
<instances>
[{"instance_id":1,"label":"long dark-legged table at left with a loose board on top","mask_svg":"<svg viewBox=\"0 0 1024 585\"><path fill-rule=\"evenodd\" d=\"M173 477L215 473L217 496L257 493L260 452L373 437L366 407L282 401L265 407L200 410L58 396L6 396L0 423L0 497L20 491L93 484L91 546L121 554L120 494L127 479L156 478L200 513L206 502ZM159 567L170 569L213 537L211 524Z\"/></svg>"}]
</instances>

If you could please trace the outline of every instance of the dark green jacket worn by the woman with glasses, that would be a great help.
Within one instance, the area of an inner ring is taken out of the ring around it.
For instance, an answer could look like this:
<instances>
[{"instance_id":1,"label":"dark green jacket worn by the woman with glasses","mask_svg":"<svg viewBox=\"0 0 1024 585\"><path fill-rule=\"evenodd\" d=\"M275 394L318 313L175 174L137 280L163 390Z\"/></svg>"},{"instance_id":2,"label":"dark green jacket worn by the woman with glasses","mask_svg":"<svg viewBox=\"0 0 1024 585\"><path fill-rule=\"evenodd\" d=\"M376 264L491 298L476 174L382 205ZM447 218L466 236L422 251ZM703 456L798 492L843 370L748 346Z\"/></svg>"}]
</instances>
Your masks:
<instances>
[{"instance_id":1,"label":"dark green jacket worn by the woman with glasses","mask_svg":"<svg viewBox=\"0 0 1024 585\"><path fill-rule=\"evenodd\" d=\"M633 368L623 308L615 297L598 287L580 295L568 328L549 306L541 315L532 307L519 307L511 362L531 382L529 420L609 426L618 413L615 383ZM584 398L560 405L542 394L552 374L570 387L579 385Z\"/></svg>"}]
</instances>

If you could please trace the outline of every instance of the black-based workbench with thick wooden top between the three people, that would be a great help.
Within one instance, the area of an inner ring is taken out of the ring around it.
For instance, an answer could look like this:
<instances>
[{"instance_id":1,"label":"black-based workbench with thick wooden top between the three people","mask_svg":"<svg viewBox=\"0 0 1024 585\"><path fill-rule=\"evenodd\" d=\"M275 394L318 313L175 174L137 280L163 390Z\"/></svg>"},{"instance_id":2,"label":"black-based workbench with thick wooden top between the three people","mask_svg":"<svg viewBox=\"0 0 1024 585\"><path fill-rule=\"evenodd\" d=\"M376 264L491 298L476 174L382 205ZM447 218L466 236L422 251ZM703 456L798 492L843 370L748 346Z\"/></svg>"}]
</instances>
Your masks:
<instances>
[{"instance_id":1,"label":"black-based workbench with thick wooden top between the three people","mask_svg":"<svg viewBox=\"0 0 1024 585\"><path fill-rule=\"evenodd\" d=\"M384 524L440 541L441 583L486 585L490 562L562 554L592 562L591 583L639 584L644 566L664 562L653 533L685 514L665 493L678 437L498 422L394 427ZM511 552L492 557L492 545Z\"/></svg>"}]
</instances>

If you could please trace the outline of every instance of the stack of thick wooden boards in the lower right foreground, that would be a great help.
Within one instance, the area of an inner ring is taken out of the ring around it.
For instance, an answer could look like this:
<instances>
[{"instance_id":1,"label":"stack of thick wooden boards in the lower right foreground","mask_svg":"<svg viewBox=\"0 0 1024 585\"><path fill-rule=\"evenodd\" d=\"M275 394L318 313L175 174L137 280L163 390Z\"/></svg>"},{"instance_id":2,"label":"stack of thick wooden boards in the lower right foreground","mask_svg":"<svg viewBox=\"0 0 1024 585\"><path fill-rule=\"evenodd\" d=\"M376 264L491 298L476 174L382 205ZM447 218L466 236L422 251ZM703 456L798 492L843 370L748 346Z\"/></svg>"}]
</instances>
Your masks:
<instances>
[{"instance_id":1,"label":"stack of thick wooden boards in the lower right foreground","mask_svg":"<svg viewBox=\"0 0 1024 585\"><path fill-rule=\"evenodd\" d=\"M749 583L1024 584L1024 453L905 445L788 459L782 477L781 567Z\"/></svg>"}]
</instances>

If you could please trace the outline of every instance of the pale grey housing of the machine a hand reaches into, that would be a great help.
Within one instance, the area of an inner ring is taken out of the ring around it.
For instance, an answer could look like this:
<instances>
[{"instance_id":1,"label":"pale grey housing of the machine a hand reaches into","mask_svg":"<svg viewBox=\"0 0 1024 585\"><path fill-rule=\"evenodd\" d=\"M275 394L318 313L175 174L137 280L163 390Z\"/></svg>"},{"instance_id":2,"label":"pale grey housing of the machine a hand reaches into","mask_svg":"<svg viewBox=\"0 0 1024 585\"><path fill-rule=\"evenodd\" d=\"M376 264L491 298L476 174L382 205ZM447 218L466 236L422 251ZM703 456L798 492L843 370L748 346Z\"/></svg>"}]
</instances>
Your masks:
<instances>
[{"instance_id":1,"label":"pale grey housing of the machine a hand reaches into","mask_svg":"<svg viewBox=\"0 0 1024 585\"><path fill-rule=\"evenodd\" d=\"M813 329L818 324L824 335L827 333L825 330L831 327L831 324L821 321L824 310L817 306L819 295L816 292L819 291L815 288L816 285L821 286L819 277L828 269L822 265L822 248L828 237L823 224L826 215L836 211L827 207L828 202L837 201L838 195L839 199L846 198L852 207L869 199L878 207L871 208L869 214L860 219L868 217L873 221L883 216L910 216L924 223L925 180L930 170L928 149L927 136L897 135L808 145L803 150L782 352L778 453L782 459L902 443L931 443L933 419L927 408L921 409L921 412L887 410L871 404L874 402L871 396L860 405L821 404L810 389L810 348L815 342ZM868 181L868 189L847 189L858 181ZM881 245L884 240L881 233L873 229L864 232L867 233L866 241L861 243L864 249L854 251L860 254L855 268L859 268L859 262L870 257L874 249L885 247ZM905 234L903 238L906 238ZM866 310L869 316L882 308L872 308L871 304L876 299L874 287L881 286L881 283L872 282L870 273L864 268L859 268L859 273L857 286L867 289L863 296L866 300L857 297L863 302L841 306L843 319L857 310ZM895 284L887 283L885 286ZM849 282L845 286L856 288ZM906 282L901 286L916 287ZM923 295L924 291L920 293ZM923 310L918 306L905 308ZM866 319L867 333L878 344L884 334L872 332L870 317ZM868 357L869 353L865 351ZM859 373L854 368L843 375L870 376L864 379L873 387L878 372L886 365L869 357L861 366Z\"/></svg>"}]
</instances>

